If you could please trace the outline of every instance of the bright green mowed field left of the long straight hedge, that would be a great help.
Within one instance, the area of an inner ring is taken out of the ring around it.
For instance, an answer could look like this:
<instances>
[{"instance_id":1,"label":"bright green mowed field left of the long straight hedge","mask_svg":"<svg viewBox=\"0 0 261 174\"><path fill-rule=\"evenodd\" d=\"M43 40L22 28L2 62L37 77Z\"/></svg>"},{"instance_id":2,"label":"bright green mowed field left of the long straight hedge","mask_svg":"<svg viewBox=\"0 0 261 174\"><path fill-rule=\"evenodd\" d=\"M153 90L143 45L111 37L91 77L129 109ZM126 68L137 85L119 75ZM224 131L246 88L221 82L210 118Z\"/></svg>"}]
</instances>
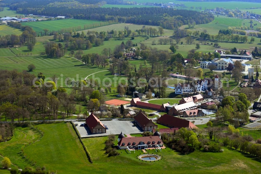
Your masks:
<instances>
[{"instance_id":1,"label":"bright green mowed field left of the long straight hedge","mask_svg":"<svg viewBox=\"0 0 261 174\"><path fill-rule=\"evenodd\" d=\"M57 173L81 173L91 169L90 162L70 123L36 125L44 132L37 143L24 149L37 166L46 166Z\"/></svg>"}]
</instances>

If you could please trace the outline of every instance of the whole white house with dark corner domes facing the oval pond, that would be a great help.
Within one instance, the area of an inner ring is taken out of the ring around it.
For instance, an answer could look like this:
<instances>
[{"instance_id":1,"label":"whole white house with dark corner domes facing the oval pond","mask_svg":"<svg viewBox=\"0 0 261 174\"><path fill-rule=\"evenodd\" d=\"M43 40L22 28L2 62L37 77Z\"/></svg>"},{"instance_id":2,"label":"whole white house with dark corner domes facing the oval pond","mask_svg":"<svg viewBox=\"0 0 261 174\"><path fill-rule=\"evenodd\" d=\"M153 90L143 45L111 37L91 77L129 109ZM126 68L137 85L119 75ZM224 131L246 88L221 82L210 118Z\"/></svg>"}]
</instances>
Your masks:
<instances>
[{"instance_id":1,"label":"whole white house with dark corner domes facing the oval pond","mask_svg":"<svg viewBox=\"0 0 261 174\"><path fill-rule=\"evenodd\" d=\"M163 147L159 136L125 137L122 133L118 136L119 149L147 149Z\"/></svg>"}]
</instances>

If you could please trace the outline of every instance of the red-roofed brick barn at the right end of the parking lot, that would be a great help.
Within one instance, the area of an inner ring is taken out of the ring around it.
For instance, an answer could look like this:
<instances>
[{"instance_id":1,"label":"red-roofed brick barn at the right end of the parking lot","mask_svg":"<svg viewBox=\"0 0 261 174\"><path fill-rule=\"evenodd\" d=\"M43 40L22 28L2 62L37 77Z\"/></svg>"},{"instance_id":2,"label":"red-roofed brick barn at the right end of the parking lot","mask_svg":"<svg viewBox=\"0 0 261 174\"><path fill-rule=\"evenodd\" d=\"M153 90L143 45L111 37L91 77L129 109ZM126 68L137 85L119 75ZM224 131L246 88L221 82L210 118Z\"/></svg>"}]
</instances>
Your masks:
<instances>
[{"instance_id":1,"label":"red-roofed brick barn at the right end of the parking lot","mask_svg":"<svg viewBox=\"0 0 261 174\"><path fill-rule=\"evenodd\" d=\"M143 131L152 131L152 129L158 128L158 126L141 111L134 117L134 121Z\"/></svg>"}]
</instances>

